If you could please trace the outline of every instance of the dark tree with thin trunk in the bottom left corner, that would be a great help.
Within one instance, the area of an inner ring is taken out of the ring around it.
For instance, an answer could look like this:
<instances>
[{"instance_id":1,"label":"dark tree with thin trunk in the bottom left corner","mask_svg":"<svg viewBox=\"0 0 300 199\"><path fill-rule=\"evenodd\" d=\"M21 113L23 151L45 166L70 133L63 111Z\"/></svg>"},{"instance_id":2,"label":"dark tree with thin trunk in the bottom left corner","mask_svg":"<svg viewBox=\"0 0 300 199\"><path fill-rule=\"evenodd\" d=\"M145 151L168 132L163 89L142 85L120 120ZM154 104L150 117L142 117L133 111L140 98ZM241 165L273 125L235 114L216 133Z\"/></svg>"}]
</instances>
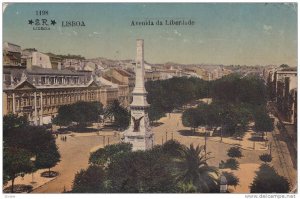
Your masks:
<instances>
[{"instance_id":1,"label":"dark tree with thin trunk in the bottom left corner","mask_svg":"<svg viewBox=\"0 0 300 199\"><path fill-rule=\"evenodd\" d=\"M18 176L24 176L32 171L32 154L21 148L4 147L3 176L6 181L11 180L11 193L14 193L14 181Z\"/></svg>"}]
</instances>

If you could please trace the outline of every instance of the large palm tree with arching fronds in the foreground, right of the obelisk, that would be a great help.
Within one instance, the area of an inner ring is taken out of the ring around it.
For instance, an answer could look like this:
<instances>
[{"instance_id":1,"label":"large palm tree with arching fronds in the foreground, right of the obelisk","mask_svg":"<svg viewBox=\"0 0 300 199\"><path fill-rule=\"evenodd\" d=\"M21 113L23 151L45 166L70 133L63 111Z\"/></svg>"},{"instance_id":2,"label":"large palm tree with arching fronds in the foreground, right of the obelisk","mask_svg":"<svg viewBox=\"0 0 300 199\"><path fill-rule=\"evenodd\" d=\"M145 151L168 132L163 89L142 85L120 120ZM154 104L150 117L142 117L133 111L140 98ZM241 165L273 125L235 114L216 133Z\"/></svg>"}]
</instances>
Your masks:
<instances>
[{"instance_id":1,"label":"large palm tree with arching fronds in the foreground, right of the obelisk","mask_svg":"<svg viewBox=\"0 0 300 199\"><path fill-rule=\"evenodd\" d=\"M219 185L219 172L216 167L209 166L204 156L204 146L193 144L182 150L181 158L177 160L177 180L180 185L193 185L196 192L216 192Z\"/></svg>"}]
</instances>

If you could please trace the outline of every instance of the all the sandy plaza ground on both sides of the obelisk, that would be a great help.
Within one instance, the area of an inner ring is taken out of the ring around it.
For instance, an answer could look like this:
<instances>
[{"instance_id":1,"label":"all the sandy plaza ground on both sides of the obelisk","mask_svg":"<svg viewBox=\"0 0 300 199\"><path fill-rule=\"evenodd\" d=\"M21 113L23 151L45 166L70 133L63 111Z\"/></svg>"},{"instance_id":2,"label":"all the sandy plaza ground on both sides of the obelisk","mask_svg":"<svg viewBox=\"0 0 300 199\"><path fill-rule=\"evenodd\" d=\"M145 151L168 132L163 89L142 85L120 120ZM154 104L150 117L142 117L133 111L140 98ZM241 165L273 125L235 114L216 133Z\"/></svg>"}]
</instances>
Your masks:
<instances>
[{"instance_id":1,"label":"all the sandy plaza ground on both sides of the obelisk","mask_svg":"<svg viewBox=\"0 0 300 199\"><path fill-rule=\"evenodd\" d=\"M180 143L189 146L204 145L205 137L203 136L187 136L182 135L182 132L189 131L190 128L184 127L181 123L182 113L171 113L158 121L159 126L152 127L154 133L154 144L162 144L167 140L178 140ZM90 152L103 147L104 145L114 144L119 142L119 132L105 129L106 131L95 131L89 133L74 133L58 135L56 143L61 154L61 162L51 168L59 175L55 178L40 177L40 173L46 171L39 170L33 174L34 181L32 184L32 174L27 174L23 178L18 177L16 184L27 184L33 186L33 193L61 193L70 191L75 174L80 169L88 167L88 158ZM167 132L167 134L166 134ZM172 135L173 134L173 135ZM253 181L255 171L262 163L259 155L269 153L269 147L265 147L265 143L257 142L253 149L253 142L249 140L251 131L248 131L242 141L237 141L232 138L223 137L222 142L220 137L207 137L207 152L211 152L208 160L209 165L219 166L221 160L225 161L227 150L232 146L240 146L243 157L238 159L240 163L238 170L221 169L220 171L233 172L240 180L238 186L229 187L233 193L249 193L249 185ZM62 141L60 136L66 136L67 141ZM277 169L280 175L289 179L293 187L296 184L296 167L293 166L292 159L289 154L287 144L281 140L275 140L279 136L279 131L276 128L273 133L268 134L268 139L273 143L272 165ZM240 145L239 145L240 144ZM275 146L276 144L276 146ZM10 182L6 186L10 186Z\"/></svg>"}]
</instances>

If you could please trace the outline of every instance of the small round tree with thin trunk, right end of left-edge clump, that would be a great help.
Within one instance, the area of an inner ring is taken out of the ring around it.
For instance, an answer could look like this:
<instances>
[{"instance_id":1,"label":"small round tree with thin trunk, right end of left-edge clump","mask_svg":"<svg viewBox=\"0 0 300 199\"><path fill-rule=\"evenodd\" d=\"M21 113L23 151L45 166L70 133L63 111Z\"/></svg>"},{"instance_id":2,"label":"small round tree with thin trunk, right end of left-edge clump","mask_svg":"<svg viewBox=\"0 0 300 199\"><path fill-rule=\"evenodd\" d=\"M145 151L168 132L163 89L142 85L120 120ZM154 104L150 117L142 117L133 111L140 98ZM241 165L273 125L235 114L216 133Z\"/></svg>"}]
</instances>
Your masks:
<instances>
[{"instance_id":1,"label":"small round tree with thin trunk, right end of left-edge clump","mask_svg":"<svg viewBox=\"0 0 300 199\"><path fill-rule=\"evenodd\" d=\"M48 176L50 177L50 169L60 161L60 154L55 142L49 143L47 146L37 153L35 165L37 168L48 168Z\"/></svg>"}]
</instances>

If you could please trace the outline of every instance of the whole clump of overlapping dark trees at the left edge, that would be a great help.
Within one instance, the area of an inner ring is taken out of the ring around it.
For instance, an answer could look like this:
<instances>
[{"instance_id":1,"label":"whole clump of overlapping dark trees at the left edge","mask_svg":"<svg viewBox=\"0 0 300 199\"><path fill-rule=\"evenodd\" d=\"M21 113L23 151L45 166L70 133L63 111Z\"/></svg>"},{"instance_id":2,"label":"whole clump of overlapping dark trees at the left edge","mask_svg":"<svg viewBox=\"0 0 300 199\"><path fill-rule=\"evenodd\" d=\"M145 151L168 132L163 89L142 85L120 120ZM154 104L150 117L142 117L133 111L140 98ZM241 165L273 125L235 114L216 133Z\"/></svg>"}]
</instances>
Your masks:
<instances>
[{"instance_id":1,"label":"whole clump of overlapping dark trees at the left edge","mask_svg":"<svg viewBox=\"0 0 300 199\"><path fill-rule=\"evenodd\" d=\"M30 161L33 156L37 156L36 162L40 161L38 153L43 152L47 156L58 153L55 138L44 127L29 126L24 117L15 115L5 116L3 122L5 182L38 168ZM53 150L47 151L46 148L50 145Z\"/></svg>"}]
</instances>

